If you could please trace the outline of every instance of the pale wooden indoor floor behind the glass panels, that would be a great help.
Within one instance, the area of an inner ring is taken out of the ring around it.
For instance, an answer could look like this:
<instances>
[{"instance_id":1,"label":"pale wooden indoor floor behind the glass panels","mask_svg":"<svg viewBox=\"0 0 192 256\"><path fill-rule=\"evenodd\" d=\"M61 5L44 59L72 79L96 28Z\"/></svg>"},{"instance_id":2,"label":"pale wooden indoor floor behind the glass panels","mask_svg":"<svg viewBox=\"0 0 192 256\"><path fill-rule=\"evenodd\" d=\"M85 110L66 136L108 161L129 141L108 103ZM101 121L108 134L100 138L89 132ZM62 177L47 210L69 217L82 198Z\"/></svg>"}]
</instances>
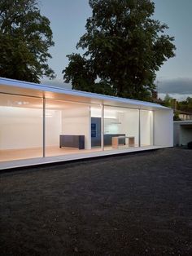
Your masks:
<instances>
[{"instance_id":1,"label":"pale wooden indoor floor behind the glass panels","mask_svg":"<svg viewBox=\"0 0 192 256\"><path fill-rule=\"evenodd\" d=\"M128 146L120 146L120 149L128 148ZM111 147L105 147L105 150L111 150ZM76 153L98 152L101 148L92 149L78 149L78 148L59 148L46 147L46 157L63 156ZM12 161L28 158L42 157L42 148L22 148L22 149L8 149L0 150L0 161Z\"/></svg>"}]
</instances>

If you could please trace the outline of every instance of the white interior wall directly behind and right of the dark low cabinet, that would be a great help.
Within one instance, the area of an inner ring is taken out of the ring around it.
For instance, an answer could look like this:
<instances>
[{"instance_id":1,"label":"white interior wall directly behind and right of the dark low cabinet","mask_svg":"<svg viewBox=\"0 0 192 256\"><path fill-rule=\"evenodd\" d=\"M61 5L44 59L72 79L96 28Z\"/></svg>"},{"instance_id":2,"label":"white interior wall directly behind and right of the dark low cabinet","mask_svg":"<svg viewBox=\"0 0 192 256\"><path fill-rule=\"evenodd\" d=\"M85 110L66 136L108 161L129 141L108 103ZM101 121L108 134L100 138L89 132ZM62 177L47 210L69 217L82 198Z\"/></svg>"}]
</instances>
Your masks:
<instances>
[{"instance_id":1,"label":"white interior wall directly behind and right of the dark low cabinet","mask_svg":"<svg viewBox=\"0 0 192 256\"><path fill-rule=\"evenodd\" d=\"M73 104L62 111L62 134L85 135L85 149L91 148L90 108L87 105Z\"/></svg>"}]
</instances>

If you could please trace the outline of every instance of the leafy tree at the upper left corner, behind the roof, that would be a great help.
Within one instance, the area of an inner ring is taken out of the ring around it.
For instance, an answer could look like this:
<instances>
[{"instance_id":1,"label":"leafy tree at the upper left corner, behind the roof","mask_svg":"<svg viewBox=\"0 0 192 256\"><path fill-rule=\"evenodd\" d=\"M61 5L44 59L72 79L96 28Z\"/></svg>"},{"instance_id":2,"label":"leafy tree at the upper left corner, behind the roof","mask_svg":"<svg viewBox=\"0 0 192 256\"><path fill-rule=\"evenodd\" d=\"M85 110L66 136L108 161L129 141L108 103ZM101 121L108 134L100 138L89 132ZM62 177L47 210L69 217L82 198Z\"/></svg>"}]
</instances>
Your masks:
<instances>
[{"instance_id":1,"label":"leafy tree at the upper left corner, behind the roof","mask_svg":"<svg viewBox=\"0 0 192 256\"><path fill-rule=\"evenodd\" d=\"M40 82L53 78L47 64L54 46L50 21L40 14L37 0L0 1L0 76Z\"/></svg>"}]
</instances>

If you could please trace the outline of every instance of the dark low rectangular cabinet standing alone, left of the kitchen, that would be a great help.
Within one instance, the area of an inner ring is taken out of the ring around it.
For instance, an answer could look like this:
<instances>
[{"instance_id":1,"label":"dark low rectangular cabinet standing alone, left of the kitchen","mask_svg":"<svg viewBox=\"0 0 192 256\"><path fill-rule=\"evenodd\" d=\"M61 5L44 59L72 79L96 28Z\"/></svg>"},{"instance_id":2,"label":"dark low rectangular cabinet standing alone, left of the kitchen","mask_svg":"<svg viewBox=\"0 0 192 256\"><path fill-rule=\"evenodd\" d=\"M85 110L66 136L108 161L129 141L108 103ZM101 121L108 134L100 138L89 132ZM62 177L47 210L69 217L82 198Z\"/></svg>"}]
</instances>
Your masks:
<instances>
[{"instance_id":1,"label":"dark low rectangular cabinet standing alone, left of the kitchen","mask_svg":"<svg viewBox=\"0 0 192 256\"><path fill-rule=\"evenodd\" d=\"M62 147L85 149L85 135L60 135L59 148Z\"/></svg>"}]
</instances>

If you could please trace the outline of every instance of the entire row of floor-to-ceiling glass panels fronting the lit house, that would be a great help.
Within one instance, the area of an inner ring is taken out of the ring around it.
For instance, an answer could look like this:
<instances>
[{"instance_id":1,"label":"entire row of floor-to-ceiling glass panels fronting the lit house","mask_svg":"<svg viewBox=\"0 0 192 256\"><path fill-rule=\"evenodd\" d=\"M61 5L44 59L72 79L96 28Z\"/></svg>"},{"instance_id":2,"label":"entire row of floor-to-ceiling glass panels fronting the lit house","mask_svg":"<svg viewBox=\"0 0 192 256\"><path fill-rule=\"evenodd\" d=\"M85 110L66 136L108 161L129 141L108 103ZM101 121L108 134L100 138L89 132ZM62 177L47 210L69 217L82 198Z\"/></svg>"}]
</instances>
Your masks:
<instances>
[{"instance_id":1,"label":"entire row of floor-to-ceiling glass panels fronting the lit house","mask_svg":"<svg viewBox=\"0 0 192 256\"><path fill-rule=\"evenodd\" d=\"M153 145L152 111L45 102L46 157ZM0 161L43 157L43 129L42 99L0 94Z\"/></svg>"}]
</instances>

